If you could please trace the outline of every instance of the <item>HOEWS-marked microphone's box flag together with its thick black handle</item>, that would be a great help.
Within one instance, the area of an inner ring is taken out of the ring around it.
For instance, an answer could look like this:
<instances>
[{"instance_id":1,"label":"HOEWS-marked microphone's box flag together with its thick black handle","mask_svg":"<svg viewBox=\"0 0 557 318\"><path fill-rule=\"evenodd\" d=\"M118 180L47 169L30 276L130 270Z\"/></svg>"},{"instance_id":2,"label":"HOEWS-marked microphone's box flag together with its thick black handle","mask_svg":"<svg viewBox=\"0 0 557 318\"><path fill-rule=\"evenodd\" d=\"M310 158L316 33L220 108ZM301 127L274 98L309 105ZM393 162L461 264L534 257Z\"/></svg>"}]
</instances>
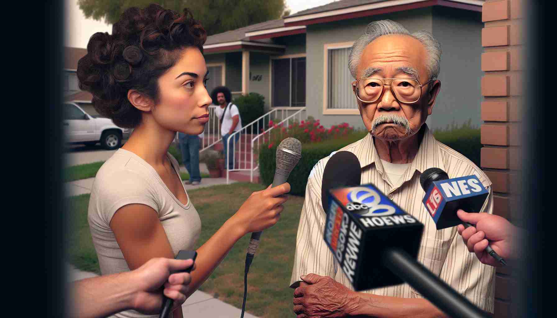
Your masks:
<instances>
[{"instance_id":1,"label":"HOEWS-marked microphone's box flag together with its thick black handle","mask_svg":"<svg viewBox=\"0 0 557 318\"><path fill-rule=\"evenodd\" d=\"M356 291L405 281L451 317L486 317L416 261L423 224L373 184L329 189L327 197L325 243Z\"/></svg>"}]
</instances>

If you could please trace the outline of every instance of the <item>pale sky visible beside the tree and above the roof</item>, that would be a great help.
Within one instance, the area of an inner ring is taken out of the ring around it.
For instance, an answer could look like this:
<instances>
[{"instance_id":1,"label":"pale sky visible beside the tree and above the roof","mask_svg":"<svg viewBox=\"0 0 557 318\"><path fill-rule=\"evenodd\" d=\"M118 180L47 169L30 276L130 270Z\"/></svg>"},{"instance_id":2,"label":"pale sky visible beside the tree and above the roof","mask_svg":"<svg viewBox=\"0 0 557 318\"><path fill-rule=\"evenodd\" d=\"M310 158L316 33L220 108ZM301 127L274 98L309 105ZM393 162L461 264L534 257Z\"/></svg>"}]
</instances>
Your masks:
<instances>
[{"instance_id":1,"label":"pale sky visible beside the tree and above the roof","mask_svg":"<svg viewBox=\"0 0 557 318\"><path fill-rule=\"evenodd\" d=\"M323 6L331 3L332 0L286 0L290 13ZM85 14L77 6L77 0L65 0L65 46L86 48L89 37L95 32L112 32L112 25L107 25L104 21L96 21L92 18L86 19Z\"/></svg>"}]
</instances>

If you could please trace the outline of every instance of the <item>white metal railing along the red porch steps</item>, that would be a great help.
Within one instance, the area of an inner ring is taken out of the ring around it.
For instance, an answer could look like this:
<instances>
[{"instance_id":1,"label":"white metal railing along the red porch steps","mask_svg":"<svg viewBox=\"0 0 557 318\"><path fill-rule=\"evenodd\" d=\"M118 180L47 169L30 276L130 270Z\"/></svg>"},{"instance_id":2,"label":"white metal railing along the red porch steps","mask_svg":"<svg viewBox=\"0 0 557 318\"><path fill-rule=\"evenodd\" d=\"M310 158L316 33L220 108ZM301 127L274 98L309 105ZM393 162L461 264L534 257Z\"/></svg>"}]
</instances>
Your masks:
<instances>
[{"instance_id":1,"label":"white metal railing along the red porch steps","mask_svg":"<svg viewBox=\"0 0 557 318\"><path fill-rule=\"evenodd\" d=\"M289 116L288 113L292 111L295 111L294 114ZM261 137L267 136L268 134L269 138L271 138L275 125L277 125L278 128L278 125L285 124L285 122L287 122L286 125L288 125L290 121L294 123L296 116L298 116L298 122L300 122L302 119L303 111L306 111L306 109L305 108L300 110L273 109L267 112L265 115L260 116L260 118L257 118L256 120L252 121L250 124L247 124L241 130L232 133L227 140L228 143L227 149L228 151L232 150L233 152L232 171L242 171L242 170L250 171L250 182L253 182L253 172L259 168L259 163L257 162L257 164L254 167L254 162L253 162L253 151L255 150L254 149L255 141L257 141L257 149L258 149L261 144L260 142ZM269 125L271 120L273 121L273 125ZM267 127L267 129L265 129L265 127ZM278 129L278 133L282 135L283 133L282 129ZM236 136L238 136L237 148L236 148L236 143L231 144L231 141L234 140ZM238 150L238 159L239 159L237 165L236 165L236 150ZM242 160L242 155L243 155L243 160ZM226 158L224 159L225 159L225 167L226 167L226 183L229 184L229 173L231 171L228 169L229 155L227 155Z\"/></svg>"}]
</instances>

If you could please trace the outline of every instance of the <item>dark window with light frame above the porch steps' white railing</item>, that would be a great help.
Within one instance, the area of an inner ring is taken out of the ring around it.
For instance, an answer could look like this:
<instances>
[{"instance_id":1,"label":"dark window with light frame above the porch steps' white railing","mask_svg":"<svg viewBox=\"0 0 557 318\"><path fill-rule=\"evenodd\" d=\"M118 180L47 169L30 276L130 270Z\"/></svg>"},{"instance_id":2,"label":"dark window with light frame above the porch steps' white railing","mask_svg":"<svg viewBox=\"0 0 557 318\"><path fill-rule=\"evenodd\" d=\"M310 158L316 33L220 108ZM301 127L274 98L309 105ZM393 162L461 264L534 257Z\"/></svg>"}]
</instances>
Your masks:
<instances>
[{"instance_id":1,"label":"dark window with light frame above the porch steps' white railing","mask_svg":"<svg viewBox=\"0 0 557 318\"><path fill-rule=\"evenodd\" d=\"M304 107L306 105L306 58L271 60L272 106Z\"/></svg>"}]
</instances>

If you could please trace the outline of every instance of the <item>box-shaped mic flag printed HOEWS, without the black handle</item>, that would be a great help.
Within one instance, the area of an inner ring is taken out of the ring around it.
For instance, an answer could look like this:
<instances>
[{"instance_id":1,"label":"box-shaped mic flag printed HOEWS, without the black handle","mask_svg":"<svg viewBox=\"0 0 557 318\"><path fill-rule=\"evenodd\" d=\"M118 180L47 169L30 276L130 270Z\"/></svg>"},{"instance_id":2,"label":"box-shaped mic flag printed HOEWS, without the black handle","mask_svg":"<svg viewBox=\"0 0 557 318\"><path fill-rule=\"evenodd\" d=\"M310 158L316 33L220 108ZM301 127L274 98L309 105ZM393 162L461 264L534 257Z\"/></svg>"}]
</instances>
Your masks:
<instances>
[{"instance_id":1,"label":"box-shaped mic flag printed HOEWS, without the black handle","mask_svg":"<svg viewBox=\"0 0 557 318\"><path fill-rule=\"evenodd\" d=\"M387 247L418 255L423 224L373 184L329 191L324 239L356 291L403 283L379 257Z\"/></svg>"}]
</instances>

